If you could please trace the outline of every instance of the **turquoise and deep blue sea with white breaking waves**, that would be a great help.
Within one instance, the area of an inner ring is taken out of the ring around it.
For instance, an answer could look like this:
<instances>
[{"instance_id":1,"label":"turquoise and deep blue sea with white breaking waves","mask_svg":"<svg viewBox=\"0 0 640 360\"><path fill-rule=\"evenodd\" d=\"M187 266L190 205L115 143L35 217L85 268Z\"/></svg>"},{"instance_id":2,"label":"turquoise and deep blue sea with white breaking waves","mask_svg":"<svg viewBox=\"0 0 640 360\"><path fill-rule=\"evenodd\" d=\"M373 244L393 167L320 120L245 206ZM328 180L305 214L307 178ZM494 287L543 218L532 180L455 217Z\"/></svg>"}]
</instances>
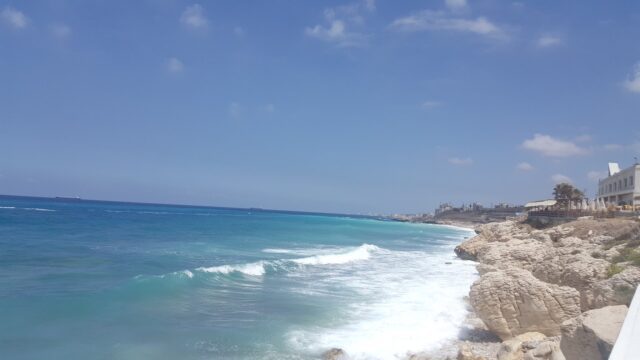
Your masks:
<instances>
[{"instance_id":1,"label":"turquoise and deep blue sea with white breaking waves","mask_svg":"<svg viewBox=\"0 0 640 360\"><path fill-rule=\"evenodd\" d=\"M402 358L455 337L470 232L0 197L0 358Z\"/></svg>"}]
</instances>

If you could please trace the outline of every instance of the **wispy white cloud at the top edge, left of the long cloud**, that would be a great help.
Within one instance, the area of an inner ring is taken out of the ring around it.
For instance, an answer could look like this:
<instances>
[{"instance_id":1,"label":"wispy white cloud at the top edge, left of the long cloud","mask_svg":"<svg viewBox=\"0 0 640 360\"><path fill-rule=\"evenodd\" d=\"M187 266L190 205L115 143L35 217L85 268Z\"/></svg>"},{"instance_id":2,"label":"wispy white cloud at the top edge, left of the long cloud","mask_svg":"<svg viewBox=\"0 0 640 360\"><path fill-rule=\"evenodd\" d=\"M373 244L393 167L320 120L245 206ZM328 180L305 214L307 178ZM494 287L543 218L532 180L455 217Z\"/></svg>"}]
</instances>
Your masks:
<instances>
[{"instance_id":1,"label":"wispy white cloud at the top edge, left of the long cloud","mask_svg":"<svg viewBox=\"0 0 640 360\"><path fill-rule=\"evenodd\" d=\"M362 27L365 15L375 9L376 5L372 0L325 9L325 24L307 27L304 33L338 47L365 46L370 36L352 28Z\"/></svg>"}]
</instances>

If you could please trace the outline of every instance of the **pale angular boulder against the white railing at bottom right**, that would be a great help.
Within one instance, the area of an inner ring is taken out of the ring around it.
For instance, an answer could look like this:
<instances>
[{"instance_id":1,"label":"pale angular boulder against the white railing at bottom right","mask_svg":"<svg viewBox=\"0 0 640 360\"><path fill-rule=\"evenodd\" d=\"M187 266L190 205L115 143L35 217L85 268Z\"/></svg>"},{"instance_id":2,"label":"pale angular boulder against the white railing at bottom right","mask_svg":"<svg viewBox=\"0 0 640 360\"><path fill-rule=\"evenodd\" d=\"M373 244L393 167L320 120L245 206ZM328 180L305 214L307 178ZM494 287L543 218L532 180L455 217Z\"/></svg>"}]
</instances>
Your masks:
<instances>
[{"instance_id":1,"label":"pale angular boulder against the white railing at bottom right","mask_svg":"<svg viewBox=\"0 0 640 360\"><path fill-rule=\"evenodd\" d=\"M562 324L560 348L570 360L606 360L618 337L625 305L589 310Z\"/></svg>"}]
</instances>

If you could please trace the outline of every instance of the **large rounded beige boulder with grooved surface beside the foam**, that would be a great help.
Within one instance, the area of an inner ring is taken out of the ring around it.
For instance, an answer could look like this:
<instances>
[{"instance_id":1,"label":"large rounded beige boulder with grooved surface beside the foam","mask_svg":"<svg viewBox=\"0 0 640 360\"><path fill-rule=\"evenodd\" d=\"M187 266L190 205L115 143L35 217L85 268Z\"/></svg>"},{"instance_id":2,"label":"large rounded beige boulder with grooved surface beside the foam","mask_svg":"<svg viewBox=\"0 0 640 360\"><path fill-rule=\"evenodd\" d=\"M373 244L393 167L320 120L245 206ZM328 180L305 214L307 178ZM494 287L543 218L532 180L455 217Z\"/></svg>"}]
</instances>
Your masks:
<instances>
[{"instance_id":1,"label":"large rounded beige boulder with grooved surface beside the foam","mask_svg":"<svg viewBox=\"0 0 640 360\"><path fill-rule=\"evenodd\" d=\"M559 335L565 320L580 315L577 290L542 282L516 268L482 275L469 297L478 317L503 340L532 331Z\"/></svg>"}]
</instances>

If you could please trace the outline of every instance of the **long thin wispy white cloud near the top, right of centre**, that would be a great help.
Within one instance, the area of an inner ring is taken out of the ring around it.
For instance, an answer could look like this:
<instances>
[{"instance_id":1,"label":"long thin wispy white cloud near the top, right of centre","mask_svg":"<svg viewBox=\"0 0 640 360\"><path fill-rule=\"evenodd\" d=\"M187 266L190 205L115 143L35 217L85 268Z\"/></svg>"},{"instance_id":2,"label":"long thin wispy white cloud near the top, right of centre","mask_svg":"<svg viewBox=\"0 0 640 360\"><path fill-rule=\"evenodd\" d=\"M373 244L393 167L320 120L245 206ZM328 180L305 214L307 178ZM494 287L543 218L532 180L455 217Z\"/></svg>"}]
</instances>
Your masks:
<instances>
[{"instance_id":1,"label":"long thin wispy white cloud near the top, right of centre","mask_svg":"<svg viewBox=\"0 0 640 360\"><path fill-rule=\"evenodd\" d=\"M493 39L507 39L507 32L485 17L461 18L445 11L422 10L394 20L389 28L402 32L455 31Z\"/></svg>"}]
</instances>

